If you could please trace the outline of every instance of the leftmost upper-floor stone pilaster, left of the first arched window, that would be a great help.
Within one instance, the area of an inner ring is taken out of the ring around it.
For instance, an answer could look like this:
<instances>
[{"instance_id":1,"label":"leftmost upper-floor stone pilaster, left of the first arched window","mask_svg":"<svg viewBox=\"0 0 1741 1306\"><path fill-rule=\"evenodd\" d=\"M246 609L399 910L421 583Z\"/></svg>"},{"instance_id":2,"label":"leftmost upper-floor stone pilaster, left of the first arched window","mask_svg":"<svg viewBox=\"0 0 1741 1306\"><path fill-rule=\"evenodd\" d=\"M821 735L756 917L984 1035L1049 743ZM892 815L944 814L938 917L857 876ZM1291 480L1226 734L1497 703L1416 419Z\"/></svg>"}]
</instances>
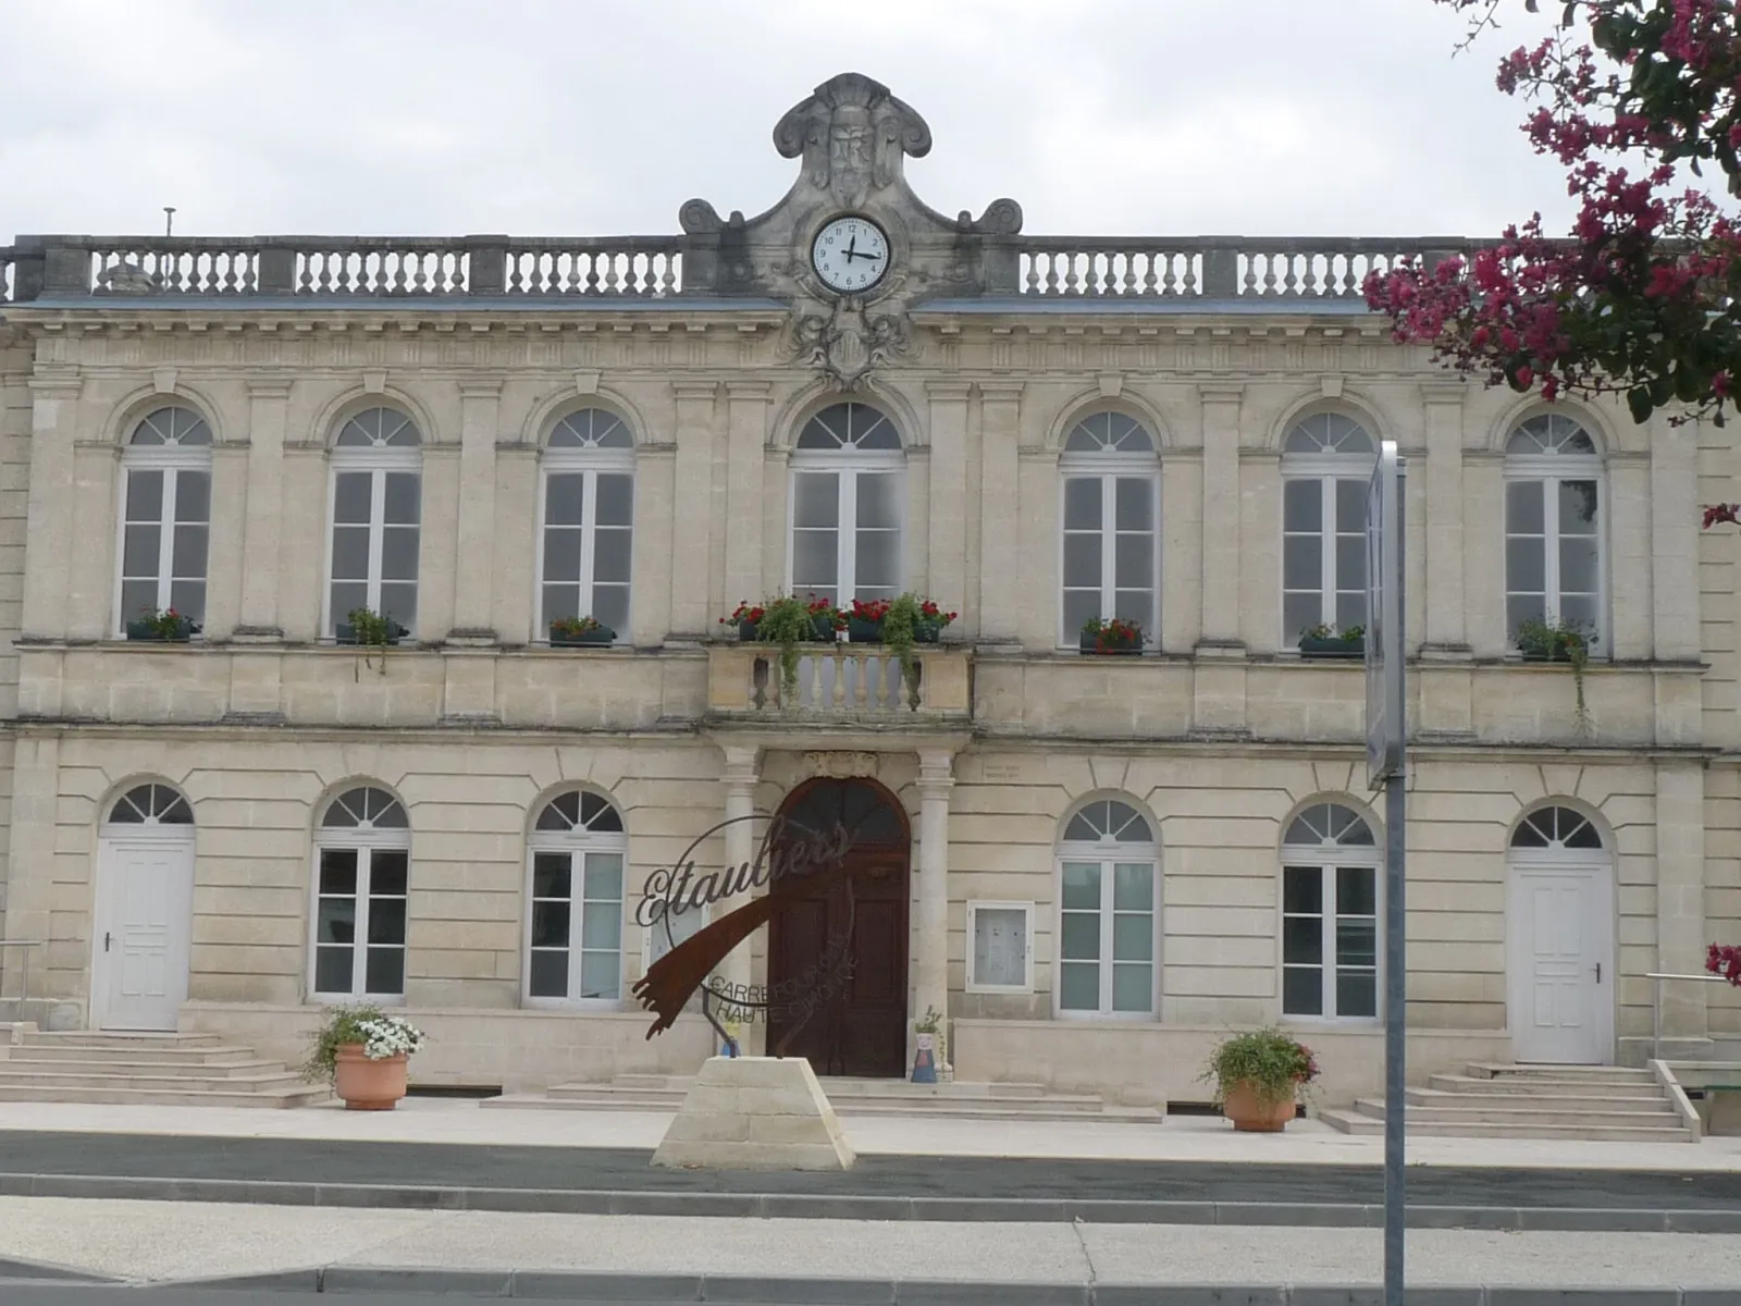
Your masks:
<instances>
[{"instance_id":1,"label":"leftmost upper-floor stone pilaster, left of the first arched window","mask_svg":"<svg viewBox=\"0 0 1741 1306\"><path fill-rule=\"evenodd\" d=\"M73 484L73 435L78 428L78 392L84 381L71 367L38 367L30 378L30 495L24 505L30 566L24 568L26 636L57 639L66 634L66 594L71 589L73 522L68 510ZM104 521L113 521L104 517ZM110 529L113 536L113 529Z\"/></svg>"}]
</instances>

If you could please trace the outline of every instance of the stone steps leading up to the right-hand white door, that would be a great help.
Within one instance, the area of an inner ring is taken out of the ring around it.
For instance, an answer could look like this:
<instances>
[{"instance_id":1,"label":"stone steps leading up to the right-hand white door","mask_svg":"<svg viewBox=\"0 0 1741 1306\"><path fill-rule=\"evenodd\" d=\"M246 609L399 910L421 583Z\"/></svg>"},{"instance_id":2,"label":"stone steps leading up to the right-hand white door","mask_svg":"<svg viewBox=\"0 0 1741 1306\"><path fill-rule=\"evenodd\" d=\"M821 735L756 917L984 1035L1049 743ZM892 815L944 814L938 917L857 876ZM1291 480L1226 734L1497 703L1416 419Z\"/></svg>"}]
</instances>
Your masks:
<instances>
[{"instance_id":1,"label":"stone steps leading up to the right-hand white door","mask_svg":"<svg viewBox=\"0 0 1741 1306\"><path fill-rule=\"evenodd\" d=\"M1696 1142L1650 1071L1614 1066L1506 1066L1476 1062L1462 1074L1433 1074L1405 1094L1410 1134L1461 1139L1583 1139ZM1320 1111L1344 1134L1382 1134L1384 1099Z\"/></svg>"}]
</instances>

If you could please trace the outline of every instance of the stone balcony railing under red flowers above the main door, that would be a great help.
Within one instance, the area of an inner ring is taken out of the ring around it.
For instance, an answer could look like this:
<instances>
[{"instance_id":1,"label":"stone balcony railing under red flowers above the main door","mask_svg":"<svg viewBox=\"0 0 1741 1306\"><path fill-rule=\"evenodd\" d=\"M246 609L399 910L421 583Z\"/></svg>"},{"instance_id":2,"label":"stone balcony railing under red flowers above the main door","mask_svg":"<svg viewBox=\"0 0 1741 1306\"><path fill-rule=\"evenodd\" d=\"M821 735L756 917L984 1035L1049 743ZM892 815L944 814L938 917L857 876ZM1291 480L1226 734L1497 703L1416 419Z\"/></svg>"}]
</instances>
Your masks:
<instances>
[{"instance_id":1,"label":"stone balcony railing under red flowers above the main door","mask_svg":"<svg viewBox=\"0 0 1741 1306\"><path fill-rule=\"evenodd\" d=\"M773 644L716 644L707 658L707 709L719 716L902 723L973 710L971 653L947 644L914 650L911 681L881 644L806 646L792 693Z\"/></svg>"}]
</instances>

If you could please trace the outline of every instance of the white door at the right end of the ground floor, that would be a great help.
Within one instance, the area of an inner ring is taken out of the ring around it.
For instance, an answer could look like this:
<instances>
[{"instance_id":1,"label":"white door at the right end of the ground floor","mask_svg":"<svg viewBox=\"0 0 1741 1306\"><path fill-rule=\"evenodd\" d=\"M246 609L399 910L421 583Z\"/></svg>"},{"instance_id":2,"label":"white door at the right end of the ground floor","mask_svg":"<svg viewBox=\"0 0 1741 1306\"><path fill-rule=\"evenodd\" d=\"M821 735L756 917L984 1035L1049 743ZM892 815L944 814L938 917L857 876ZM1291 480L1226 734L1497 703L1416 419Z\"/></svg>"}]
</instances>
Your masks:
<instances>
[{"instance_id":1,"label":"white door at the right end of the ground floor","mask_svg":"<svg viewBox=\"0 0 1741 1306\"><path fill-rule=\"evenodd\" d=\"M1614 881L1605 865L1511 865L1511 1055L1603 1066L1614 1054Z\"/></svg>"}]
</instances>

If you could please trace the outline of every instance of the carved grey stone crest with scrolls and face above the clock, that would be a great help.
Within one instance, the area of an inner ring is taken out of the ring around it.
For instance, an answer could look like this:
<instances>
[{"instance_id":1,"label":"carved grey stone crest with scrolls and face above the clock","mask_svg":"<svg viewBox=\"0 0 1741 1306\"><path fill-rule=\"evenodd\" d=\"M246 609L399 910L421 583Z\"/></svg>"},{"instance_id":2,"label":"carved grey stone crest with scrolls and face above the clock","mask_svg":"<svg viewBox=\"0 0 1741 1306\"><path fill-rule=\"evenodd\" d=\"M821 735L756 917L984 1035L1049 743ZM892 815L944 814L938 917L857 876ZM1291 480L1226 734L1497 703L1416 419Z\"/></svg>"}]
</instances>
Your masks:
<instances>
[{"instance_id":1,"label":"carved grey stone crest with scrolls and face above the clock","mask_svg":"<svg viewBox=\"0 0 1741 1306\"><path fill-rule=\"evenodd\" d=\"M787 110L773 129L782 158L804 157L804 178L848 209L902 178L905 155L931 151L924 118L864 73L841 73Z\"/></svg>"}]
</instances>

